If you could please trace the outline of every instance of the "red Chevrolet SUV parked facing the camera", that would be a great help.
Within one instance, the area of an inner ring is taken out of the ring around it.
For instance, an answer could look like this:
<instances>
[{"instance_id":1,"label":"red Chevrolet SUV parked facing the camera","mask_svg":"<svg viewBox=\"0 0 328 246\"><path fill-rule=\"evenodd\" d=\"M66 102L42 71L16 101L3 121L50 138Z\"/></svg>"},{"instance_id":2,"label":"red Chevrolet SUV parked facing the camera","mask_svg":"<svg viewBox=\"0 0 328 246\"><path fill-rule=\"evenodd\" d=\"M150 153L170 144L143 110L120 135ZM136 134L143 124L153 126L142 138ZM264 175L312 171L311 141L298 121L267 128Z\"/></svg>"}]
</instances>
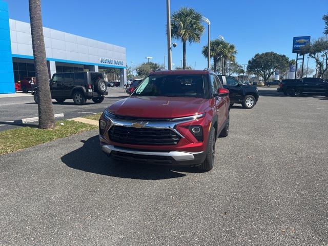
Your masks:
<instances>
[{"instance_id":1,"label":"red Chevrolet SUV parked facing the camera","mask_svg":"<svg viewBox=\"0 0 328 246\"><path fill-rule=\"evenodd\" d=\"M211 70L159 70L99 119L101 149L120 161L209 171L229 133L229 90Z\"/></svg>"}]
</instances>

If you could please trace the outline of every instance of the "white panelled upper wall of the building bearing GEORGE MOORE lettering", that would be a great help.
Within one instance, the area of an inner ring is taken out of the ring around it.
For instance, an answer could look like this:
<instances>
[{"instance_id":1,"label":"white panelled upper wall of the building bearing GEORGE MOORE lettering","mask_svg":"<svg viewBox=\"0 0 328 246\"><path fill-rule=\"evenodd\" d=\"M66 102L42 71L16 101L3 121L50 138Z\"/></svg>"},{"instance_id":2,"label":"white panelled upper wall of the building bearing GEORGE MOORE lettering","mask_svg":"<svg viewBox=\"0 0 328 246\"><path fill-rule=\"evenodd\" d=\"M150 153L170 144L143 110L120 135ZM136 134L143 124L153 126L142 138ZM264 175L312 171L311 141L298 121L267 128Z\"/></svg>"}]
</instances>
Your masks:
<instances>
[{"instance_id":1,"label":"white panelled upper wall of the building bearing GEORGE MOORE lettering","mask_svg":"<svg viewBox=\"0 0 328 246\"><path fill-rule=\"evenodd\" d=\"M29 23L9 19L13 56L33 56L31 27ZM63 62L80 62L105 67L126 67L126 49L94 39L43 28L47 59ZM106 58L106 64L101 63ZM67 60L67 61L64 61ZM122 65L109 64L108 60L120 61Z\"/></svg>"}]
</instances>

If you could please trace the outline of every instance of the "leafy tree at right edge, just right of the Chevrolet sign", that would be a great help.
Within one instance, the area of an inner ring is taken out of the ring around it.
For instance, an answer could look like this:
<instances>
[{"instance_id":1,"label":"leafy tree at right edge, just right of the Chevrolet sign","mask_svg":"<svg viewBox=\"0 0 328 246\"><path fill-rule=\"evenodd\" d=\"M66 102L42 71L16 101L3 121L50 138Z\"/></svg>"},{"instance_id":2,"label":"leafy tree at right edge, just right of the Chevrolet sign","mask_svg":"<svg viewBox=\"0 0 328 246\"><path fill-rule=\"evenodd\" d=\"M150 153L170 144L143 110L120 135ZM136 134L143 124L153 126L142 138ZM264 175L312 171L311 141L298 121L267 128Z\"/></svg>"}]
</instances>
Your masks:
<instances>
[{"instance_id":1,"label":"leafy tree at right edge, just right of the Chevrolet sign","mask_svg":"<svg viewBox=\"0 0 328 246\"><path fill-rule=\"evenodd\" d=\"M309 56L315 59L319 77L325 78L325 74L328 73L328 39L322 37L315 42L302 47L301 54L309 54ZM317 56L319 54L319 56Z\"/></svg>"}]
</instances>

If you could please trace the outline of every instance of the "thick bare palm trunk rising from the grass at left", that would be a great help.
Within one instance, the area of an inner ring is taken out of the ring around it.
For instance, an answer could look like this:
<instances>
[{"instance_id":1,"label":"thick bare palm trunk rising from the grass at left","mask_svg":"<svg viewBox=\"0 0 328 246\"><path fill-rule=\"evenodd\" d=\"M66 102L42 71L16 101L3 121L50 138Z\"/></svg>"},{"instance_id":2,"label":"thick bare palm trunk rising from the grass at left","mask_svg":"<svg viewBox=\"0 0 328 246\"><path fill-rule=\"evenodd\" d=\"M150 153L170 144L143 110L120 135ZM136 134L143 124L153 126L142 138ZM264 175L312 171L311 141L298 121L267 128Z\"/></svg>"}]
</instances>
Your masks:
<instances>
[{"instance_id":1,"label":"thick bare palm trunk rising from the grass at left","mask_svg":"<svg viewBox=\"0 0 328 246\"><path fill-rule=\"evenodd\" d=\"M46 48L43 36L41 0L29 0L32 47L38 93L39 128L55 128L55 118L49 87Z\"/></svg>"}]
</instances>

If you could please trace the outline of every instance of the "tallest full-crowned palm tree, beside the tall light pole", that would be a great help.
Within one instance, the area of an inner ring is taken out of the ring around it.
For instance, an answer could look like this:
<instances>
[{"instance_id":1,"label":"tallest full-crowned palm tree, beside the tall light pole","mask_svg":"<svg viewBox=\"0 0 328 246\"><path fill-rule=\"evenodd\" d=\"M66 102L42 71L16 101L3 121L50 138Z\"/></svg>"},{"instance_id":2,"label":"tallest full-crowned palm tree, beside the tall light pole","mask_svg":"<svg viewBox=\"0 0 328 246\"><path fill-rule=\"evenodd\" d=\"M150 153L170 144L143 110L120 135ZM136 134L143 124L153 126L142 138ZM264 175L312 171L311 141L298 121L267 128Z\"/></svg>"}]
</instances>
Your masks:
<instances>
[{"instance_id":1,"label":"tallest full-crowned palm tree, beside the tall light pole","mask_svg":"<svg viewBox=\"0 0 328 246\"><path fill-rule=\"evenodd\" d=\"M200 42L204 32L201 14L192 8L181 8L171 16L172 37L180 39L183 52L183 69L186 69L186 43Z\"/></svg>"}]
</instances>

